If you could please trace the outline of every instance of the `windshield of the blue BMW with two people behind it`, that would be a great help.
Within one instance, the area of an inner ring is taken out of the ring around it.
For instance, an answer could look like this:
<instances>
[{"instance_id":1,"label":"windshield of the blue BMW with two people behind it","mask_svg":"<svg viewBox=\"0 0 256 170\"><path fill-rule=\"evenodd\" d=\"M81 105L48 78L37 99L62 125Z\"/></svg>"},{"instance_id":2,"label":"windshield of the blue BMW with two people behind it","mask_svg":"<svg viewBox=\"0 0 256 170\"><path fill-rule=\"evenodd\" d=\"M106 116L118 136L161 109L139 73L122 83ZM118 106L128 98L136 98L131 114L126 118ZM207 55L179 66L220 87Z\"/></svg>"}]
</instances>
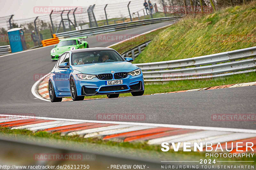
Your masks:
<instances>
[{"instance_id":1,"label":"windshield of the blue BMW with two people behind it","mask_svg":"<svg viewBox=\"0 0 256 170\"><path fill-rule=\"evenodd\" d=\"M124 61L113 50L86 51L72 54L72 65Z\"/></svg>"}]
</instances>

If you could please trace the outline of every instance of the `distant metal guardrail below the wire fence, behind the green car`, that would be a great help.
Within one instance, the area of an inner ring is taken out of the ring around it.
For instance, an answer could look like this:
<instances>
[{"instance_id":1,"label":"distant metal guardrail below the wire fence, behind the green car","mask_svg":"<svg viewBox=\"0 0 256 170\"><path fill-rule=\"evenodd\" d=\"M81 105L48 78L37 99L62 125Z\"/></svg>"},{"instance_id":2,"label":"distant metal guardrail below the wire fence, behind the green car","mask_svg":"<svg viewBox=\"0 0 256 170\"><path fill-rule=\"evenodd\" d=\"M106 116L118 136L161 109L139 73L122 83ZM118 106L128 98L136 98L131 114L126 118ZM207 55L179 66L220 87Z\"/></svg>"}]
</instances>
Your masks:
<instances>
[{"instance_id":1,"label":"distant metal guardrail below the wire fence, behind the green car","mask_svg":"<svg viewBox=\"0 0 256 170\"><path fill-rule=\"evenodd\" d=\"M78 37L78 36L90 36L90 35L96 35L100 33L108 33L113 31L124 30L128 28L135 28L138 26L143 26L148 24L155 24L155 23L169 21L169 20L176 20L178 18L182 18L182 16L143 19L139 21L111 24L106 26L86 28L82 30L68 31L64 33L56 33L55 36L58 37L60 40L64 38L72 38L72 37Z\"/></svg>"}]
</instances>

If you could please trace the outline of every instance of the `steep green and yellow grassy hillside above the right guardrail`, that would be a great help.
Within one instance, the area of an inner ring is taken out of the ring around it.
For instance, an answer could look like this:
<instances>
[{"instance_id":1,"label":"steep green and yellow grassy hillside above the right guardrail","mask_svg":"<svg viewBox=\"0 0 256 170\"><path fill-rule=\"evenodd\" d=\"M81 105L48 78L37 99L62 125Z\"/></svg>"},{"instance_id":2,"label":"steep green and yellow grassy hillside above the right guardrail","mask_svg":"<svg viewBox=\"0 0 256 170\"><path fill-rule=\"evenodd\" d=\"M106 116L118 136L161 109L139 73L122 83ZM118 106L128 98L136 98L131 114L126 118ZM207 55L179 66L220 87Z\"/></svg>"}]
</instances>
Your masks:
<instances>
[{"instance_id":1,"label":"steep green and yellow grassy hillside above the right guardrail","mask_svg":"<svg viewBox=\"0 0 256 170\"><path fill-rule=\"evenodd\" d=\"M209 55L256 46L256 1L196 18L188 16L158 34L134 63Z\"/></svg>"}]
</instances>

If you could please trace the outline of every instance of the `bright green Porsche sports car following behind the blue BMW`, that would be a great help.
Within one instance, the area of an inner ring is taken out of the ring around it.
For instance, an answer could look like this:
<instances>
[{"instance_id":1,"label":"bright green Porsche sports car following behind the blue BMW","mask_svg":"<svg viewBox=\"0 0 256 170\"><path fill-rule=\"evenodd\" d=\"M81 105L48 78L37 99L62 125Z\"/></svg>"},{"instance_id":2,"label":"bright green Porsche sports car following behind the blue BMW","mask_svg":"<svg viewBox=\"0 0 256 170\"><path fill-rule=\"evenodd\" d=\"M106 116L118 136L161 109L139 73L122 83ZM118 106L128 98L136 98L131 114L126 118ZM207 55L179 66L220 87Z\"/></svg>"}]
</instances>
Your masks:
<instances>
[{"instance_id":1,"label":"bright green Porsche sports car following behind the blue BMW","mask_svg":"<svg viewBox=\"0 0 256 170\"><path fill-rule=\"evenodd\" d=\"M60 40L59 44L55 45L51 50L52 61L57 61L62 53L71 49L89 48L88 42L84 41L85 38L87 36Z\"/></svg>"}]
</instances>

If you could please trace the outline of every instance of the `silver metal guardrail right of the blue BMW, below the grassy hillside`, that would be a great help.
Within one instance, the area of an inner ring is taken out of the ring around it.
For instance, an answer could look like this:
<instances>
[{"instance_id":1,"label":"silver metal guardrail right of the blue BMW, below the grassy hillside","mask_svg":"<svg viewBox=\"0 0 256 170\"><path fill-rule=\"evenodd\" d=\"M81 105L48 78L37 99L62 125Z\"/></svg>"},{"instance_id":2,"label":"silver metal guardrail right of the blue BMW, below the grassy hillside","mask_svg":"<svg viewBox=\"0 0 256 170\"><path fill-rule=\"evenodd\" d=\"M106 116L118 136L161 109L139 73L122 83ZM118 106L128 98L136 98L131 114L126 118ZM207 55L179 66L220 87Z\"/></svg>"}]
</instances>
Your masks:
<instances>
[{"instance_id":1,"label":"silver metal guardrail right of the blue BMW, below the grassy hillside","mask_svg":"<svg viewBox=\"0 0 256 170\"><path fill-rule=\"evenodd\" d=\"M142 70L145 82L216 78L255 72L256 47L136 65Z\"/></svg>"}]
</instances>

